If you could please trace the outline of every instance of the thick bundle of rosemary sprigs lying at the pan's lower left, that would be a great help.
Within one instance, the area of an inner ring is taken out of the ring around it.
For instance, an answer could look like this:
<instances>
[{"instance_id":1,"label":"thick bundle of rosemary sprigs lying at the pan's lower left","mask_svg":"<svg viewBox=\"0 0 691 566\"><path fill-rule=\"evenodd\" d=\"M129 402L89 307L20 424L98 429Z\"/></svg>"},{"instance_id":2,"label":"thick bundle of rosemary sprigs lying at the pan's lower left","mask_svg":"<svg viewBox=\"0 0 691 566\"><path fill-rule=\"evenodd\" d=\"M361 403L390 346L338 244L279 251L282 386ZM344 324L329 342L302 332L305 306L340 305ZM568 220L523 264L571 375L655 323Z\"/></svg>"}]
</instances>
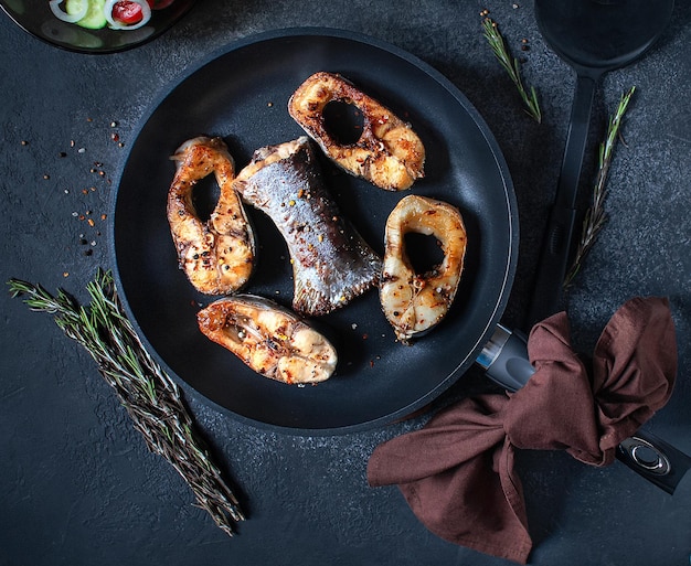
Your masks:
<instances>
[{"instance_id":1,"label":"thick bundle of rosemary sprigs lying at the pan's lower left","mask_svg":"<svg viewBox=\"0 0 691 566\"><path fill-rule=\"evenodd\" d=\"M87 285L88 308L62 289L52 296L19 279L8 285L13 297L22 296L31 310L53 314L63 332L88 351L149 450L172 464L199 506L232 536L234 522L245 519L237 499L195 431L178 386L147 353L123 311L110 271L99 269Z\"/></svg>"}]
</instances>

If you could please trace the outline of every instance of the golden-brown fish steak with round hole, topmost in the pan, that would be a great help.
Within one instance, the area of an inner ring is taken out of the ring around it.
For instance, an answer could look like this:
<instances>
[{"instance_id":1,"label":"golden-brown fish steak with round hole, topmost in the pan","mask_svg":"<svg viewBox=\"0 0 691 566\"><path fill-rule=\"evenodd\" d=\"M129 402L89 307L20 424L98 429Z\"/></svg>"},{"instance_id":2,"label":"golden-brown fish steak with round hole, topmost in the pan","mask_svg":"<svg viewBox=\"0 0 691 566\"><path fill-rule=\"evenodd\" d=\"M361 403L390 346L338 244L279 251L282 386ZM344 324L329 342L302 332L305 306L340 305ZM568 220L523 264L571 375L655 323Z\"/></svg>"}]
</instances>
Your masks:
<instances>
[{"instance_id":1,"label":"golden-brown fish steak with round hole, topmost in the pan","mask_svg":"<svg viewBox=\"0 0 691 566\"><path fill-rule=\"evenodd\" d=\"M362 113L362 134L354 143L340 143L329 134L325 107L332 102ZM425 147L412 126L341 75L308 77L290 97L288 114L336 164L381 189L402 191L424 177Z\"/></svg>"}]
</instances>

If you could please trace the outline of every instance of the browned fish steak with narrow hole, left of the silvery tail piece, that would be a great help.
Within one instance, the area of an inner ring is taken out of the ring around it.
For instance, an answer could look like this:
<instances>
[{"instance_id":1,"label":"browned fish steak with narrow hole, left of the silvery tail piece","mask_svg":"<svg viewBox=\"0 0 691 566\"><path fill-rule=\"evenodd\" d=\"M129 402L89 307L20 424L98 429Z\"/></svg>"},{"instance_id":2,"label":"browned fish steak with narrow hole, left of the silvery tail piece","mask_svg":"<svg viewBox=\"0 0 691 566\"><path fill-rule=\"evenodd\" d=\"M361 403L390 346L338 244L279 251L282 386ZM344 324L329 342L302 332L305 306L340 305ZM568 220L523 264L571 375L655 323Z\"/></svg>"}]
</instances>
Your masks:
<instances>
[{"instance_id":1,"label":"browned fish steak with narrow hole, left of the silvery tail piece","mask_svg":"<svg viewBox=\"0 0 691 566\"><path fill-rule=\"evenodd\" d=\"M235 165L221 138L198 137L182 143L171 158L176 174L168 191L167 215L180 269L205 295L242 289L255 264L255 236L232 182ZM214 174L221 195L203 222L194 207L196 183Z\"/></svg>"}]
</instances>

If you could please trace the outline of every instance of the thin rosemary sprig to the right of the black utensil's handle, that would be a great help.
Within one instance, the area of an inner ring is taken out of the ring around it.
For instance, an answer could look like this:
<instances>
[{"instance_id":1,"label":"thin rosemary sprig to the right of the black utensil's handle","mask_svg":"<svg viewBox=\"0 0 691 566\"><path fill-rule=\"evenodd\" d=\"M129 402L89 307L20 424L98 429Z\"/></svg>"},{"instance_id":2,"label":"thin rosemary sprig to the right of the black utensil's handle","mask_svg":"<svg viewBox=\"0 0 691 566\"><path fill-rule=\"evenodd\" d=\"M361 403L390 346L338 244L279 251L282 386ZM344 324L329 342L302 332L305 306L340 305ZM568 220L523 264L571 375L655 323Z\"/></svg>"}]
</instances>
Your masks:
<instances>
[{"instance_id":1,"label":"thin rosemary sprig to the right of the black utensil's handle","mask_svg":"<svg viewBox=\"0 0 691 566\"><path fill-rule=\"evenodd\" d=\"M619 98L619 104L614 116L609 117L607 125L607 135L605 140L599 145L598 153L598 167L597 175L595 179L595 188L593 189L593 203L585 213L583 218L583 227L581 232L581 239L578 241L578 247L576 254L564 279L564 288L568 287L583 266L585 257L593 248L597 236L607 222L607 213L605 212L605 197L607 196L606 181L609 173L609 165L612 164L612 157L614 148L617 145L619 138L619 131L621 129L621 120L626 114L631 96L634 95L636 87L632 86Z\"/></svg>"}]
</instances>

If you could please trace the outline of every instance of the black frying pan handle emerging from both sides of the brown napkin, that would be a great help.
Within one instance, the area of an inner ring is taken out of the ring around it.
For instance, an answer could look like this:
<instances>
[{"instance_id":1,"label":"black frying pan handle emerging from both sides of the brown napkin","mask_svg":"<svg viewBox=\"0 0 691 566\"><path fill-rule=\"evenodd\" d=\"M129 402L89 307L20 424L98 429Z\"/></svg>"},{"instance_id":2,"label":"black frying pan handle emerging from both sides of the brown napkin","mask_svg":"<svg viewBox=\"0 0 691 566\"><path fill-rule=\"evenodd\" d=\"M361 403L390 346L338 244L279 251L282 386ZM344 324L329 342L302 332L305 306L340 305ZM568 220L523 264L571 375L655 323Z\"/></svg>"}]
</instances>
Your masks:
<instances>
[{"instance_id":1,"label":"black frying pan handle emerging from both sides of the brown napkin","mask_svg":"<svg viewBox=\"0 0 691 566\"><path fill-rule=\"evenodd\" d=\"M525 385L535 372L528 357L525 335L501 324L497 325L477 363L485 369L490 380L511 392ZM691 469L691 457L645 430L638 430L621 441L616 457L670 494Z\"/></svg>"}]
</instances>

